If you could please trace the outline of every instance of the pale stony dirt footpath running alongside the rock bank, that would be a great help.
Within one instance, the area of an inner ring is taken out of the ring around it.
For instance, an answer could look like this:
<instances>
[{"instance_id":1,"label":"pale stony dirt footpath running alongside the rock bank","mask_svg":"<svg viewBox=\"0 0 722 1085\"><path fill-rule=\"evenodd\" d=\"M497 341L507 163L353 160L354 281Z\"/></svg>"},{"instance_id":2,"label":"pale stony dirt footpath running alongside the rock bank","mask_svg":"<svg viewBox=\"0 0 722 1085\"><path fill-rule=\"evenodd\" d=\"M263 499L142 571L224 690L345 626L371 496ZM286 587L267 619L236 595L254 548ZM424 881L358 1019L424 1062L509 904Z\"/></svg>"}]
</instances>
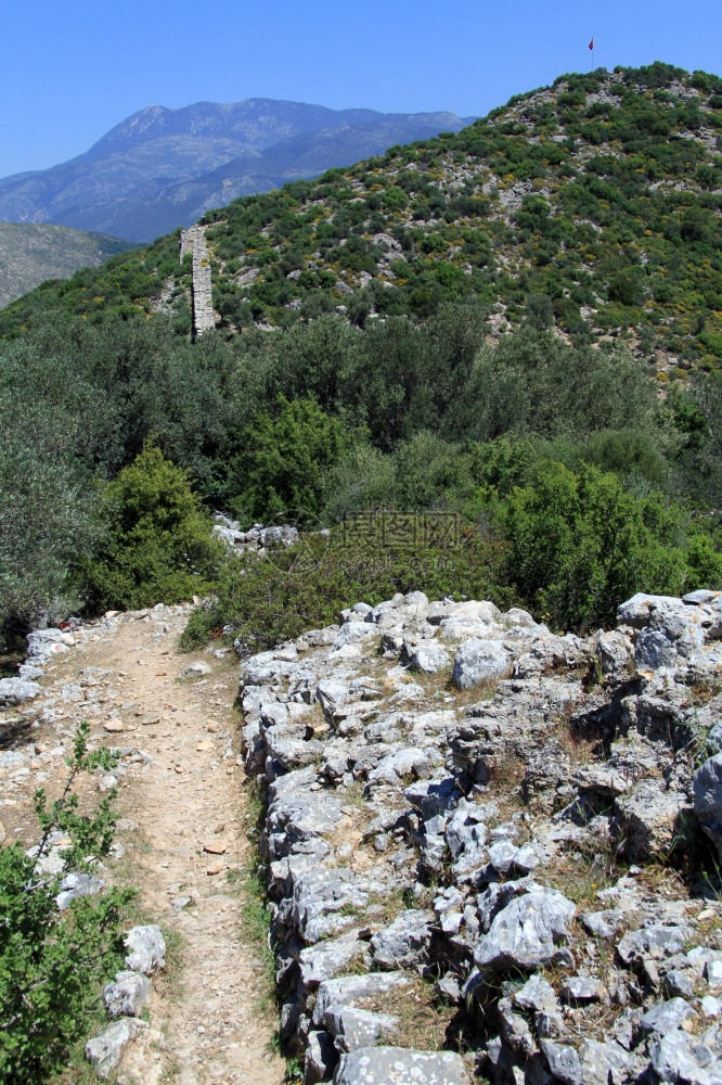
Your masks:
<instances>
[{"instance_id":1,"label":"pale stony dirt footpath running alongside the rock bank","mask_svg":"<svg viewBox=\"0 0 722 1085\"><path fill-rule=\"evenodd\" d=\"M154 981L150 1027L118 1082L280 1085L267 967L244 937L237 873L255 816L235 764L237 661L233 652L181 655L188 613L155 608L86 627L47 665L31 706L0 715L3 748L24 755L0 769L0 819L8 843L34 843L31 795L60 788L79 719L91 720L93 744L121 746L121 854L106 877L138 886L140 919L169 932L170 969ZM209 673L179 677L195 661ZM99 774L92 787L100 795L111 783Z\"/></svg>"}]
</instances>

